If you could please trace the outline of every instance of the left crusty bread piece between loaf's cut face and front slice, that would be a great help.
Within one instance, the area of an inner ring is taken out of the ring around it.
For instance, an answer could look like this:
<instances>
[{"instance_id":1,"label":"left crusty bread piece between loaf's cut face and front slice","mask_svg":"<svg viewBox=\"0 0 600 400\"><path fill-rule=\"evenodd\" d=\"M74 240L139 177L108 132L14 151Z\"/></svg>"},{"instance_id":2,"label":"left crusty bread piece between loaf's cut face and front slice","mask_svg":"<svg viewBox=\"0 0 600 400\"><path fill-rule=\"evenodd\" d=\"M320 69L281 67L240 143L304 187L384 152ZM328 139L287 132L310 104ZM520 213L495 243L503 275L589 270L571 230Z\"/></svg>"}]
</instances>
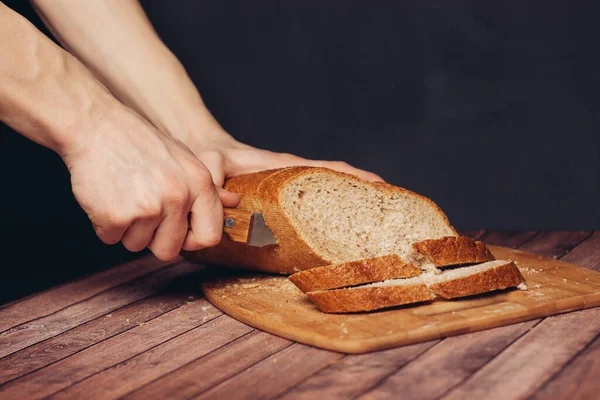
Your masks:
<instances>
[{"instance_id":1,"label":"left crusty bread piece between loaf's cut face and front slice","mask_svg":"<svg viewBox=\"0 0 600 400\"><path fill-rule=\"evenodd\" d=\"M303 292L314 292L417 275L420 268L391 254L308 269L291 275L290 281Z\"/></svg>"}]
</instances>

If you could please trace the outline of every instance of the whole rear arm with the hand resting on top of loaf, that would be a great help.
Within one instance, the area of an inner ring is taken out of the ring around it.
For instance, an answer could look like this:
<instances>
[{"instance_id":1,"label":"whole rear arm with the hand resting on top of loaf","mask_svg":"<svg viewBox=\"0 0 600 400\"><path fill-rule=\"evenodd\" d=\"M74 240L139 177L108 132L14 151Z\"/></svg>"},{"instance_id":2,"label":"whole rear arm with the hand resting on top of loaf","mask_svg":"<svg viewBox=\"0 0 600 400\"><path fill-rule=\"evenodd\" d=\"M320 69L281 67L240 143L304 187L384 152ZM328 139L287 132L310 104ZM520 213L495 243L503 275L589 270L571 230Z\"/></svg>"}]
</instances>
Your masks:
<instances>
[{"instance_id":1,"label":"whole rear arm with the hand resting on top of loaf","mask_svg":"<svg viewBox=\"0 0 600 400\"><path fill-rule=\"evenodd\" d=\"M325 166L381 180L346 163L306 160L235 141L212 117L137 0L33 0L33 4L69 51L122 102L185 143L206 164L216 184L222 185L229 176L291 165Z\"/></svg>"}]
</instances>

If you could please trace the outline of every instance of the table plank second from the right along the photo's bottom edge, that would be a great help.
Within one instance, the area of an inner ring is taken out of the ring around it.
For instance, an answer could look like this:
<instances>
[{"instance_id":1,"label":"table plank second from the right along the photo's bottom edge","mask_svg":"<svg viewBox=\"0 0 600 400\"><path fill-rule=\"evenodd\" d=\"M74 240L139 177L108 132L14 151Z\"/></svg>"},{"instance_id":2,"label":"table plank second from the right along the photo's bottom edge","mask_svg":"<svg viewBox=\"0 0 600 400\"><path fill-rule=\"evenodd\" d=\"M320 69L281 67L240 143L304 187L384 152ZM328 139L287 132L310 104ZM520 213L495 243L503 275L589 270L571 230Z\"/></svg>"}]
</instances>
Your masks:
<instances>
[{"instance_id":1,"label":"table plank second from the right along the photo's bottom edge","mask_svg":"<svg viewBox=\"0 0 600 400\"><path fill-rule=\"evenodd\" d=\"M527 398L598 332L600 308L546 318L443 398Z\"/></svg>"}]
</instances>

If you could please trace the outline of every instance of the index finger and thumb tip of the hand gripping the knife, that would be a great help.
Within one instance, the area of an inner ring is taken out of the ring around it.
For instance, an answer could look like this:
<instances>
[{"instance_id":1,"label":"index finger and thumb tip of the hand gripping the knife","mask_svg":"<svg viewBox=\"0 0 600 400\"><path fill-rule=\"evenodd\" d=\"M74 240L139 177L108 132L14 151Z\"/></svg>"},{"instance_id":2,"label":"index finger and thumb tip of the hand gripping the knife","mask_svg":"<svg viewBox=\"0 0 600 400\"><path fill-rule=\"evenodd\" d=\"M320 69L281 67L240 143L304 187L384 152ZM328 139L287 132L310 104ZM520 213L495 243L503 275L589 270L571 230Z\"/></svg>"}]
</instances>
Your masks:
<instances>
[{"instance_id":1,"label":"index finger and thumb tip of the hand gripping the knife","mask_svg":"<svg viewBox=\"0 0 600 400\"><path fill-rule=\"evenodd\" d=\"M221 242L223 235L223 205L215 186L198 196L192 204L190 211L190 230L183 243L187 251L200 250L205 247L216 246ZM234 204L235 198L222 189L228 204ZM235 196L235 195L234 195Z\"/></svg>"}]
</instances>

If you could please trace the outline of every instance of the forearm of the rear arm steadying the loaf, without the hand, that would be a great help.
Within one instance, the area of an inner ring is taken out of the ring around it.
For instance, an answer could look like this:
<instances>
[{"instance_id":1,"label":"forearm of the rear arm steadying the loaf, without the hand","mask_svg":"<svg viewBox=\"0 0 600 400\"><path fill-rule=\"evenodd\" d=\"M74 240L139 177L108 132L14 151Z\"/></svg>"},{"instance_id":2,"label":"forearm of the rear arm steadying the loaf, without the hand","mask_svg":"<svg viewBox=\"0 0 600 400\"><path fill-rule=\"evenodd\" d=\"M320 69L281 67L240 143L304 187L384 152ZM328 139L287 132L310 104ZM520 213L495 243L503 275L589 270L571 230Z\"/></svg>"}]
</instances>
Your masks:
<instances>
[{"instance_id":1,"label":"forearm of the rear arm steadying the loaf, without the hand","mask_svg":"<svg viewBox=\"0 0 600 400\"><path fill-rule=\"evenodd\" d=\"M58 40L123 103L184 143L226 135L137 0L33 0Z\"/></svg>"}]
</instances>

